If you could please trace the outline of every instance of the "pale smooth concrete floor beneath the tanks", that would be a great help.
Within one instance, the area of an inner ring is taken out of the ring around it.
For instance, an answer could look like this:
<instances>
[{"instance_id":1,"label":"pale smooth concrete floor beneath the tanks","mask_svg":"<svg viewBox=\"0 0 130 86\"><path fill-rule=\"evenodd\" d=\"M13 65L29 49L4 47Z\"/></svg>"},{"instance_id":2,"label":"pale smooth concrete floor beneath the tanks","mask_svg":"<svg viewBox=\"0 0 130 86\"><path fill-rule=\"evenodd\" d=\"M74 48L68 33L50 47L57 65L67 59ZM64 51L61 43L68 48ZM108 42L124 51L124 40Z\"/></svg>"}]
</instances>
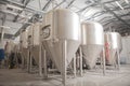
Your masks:
<instances>
[{"instance_id":1,"label":"pale smooth concrete floor beneath the tanks","mask_svg":"<svg viewBox=\"0 0 130 86\"><path fill-rule=\"evenodd\" d=\"M0 86L62 86L60 75L50 75L48 80L38 74L28 74L21 69L0 69ZM72 78L68 76L66 86L130 86L130 64L121 66L120 71L91 70L83 76Z\"/></svg>"}]
</instances>

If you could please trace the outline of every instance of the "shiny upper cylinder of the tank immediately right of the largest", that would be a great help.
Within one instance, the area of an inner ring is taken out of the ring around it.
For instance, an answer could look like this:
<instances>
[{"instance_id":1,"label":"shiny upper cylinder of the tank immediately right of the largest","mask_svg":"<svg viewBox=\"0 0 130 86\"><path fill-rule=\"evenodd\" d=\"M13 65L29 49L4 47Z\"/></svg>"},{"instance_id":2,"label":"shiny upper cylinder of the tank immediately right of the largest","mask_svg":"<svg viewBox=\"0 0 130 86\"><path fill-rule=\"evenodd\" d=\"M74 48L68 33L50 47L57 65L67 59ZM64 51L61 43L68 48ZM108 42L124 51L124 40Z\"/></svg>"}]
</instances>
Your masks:
<instances>
[{"instance_id":1,"label":"shiny upper cylinder of the tank immediately right of the largest","mask_svg":"<svg viewBox=\"0 0 130 86\"><path fill-rule=\"evenodd\" d=\"M104 44L103 27L99 23L87 22L81 24L81 44Z\"/></svg>"}]
</instances>

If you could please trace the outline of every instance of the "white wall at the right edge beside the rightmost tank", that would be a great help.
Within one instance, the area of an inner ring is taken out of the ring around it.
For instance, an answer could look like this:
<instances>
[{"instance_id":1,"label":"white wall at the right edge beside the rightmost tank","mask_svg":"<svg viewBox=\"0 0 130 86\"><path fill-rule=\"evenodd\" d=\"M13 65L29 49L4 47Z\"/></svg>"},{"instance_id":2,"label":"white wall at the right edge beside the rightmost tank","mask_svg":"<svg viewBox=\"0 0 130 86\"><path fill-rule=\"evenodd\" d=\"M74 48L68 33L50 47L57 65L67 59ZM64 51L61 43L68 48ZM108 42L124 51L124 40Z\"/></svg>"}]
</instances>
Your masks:
<instances>
[{"instance_id":1,"label":"white wall at the right edge beside the rightmost tank","mask_svg":"<svg viewBox=\"0 0 130 86\"><path fill-rule=\"evenodd\" d=\"M121 62L130 63L130 37L122 37Z\"/></svg>"}]
</instances>

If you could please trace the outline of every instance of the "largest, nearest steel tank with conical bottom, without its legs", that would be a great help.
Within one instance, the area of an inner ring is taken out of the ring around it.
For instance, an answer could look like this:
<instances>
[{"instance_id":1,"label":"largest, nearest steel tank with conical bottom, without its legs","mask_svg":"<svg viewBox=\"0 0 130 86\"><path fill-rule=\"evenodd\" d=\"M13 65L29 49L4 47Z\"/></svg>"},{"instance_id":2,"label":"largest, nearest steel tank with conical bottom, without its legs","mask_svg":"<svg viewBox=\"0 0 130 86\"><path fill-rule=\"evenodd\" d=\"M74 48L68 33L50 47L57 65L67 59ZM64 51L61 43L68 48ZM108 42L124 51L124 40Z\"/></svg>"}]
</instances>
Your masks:
<instances>
[{"instance_id":1,"label":"largest, nearest steel tank with conical bottom, without its legs","mask_svg":"<svg viewBox=\"0 0 130 86\"><path fill-rule=\"evenodd\" d=\"M65 9L54 10L44 15L41 28L43 45L58 71L62 71L62 45L67 43L66 68L80 45L79 16Z\"/></svg>"}]
</instances>

